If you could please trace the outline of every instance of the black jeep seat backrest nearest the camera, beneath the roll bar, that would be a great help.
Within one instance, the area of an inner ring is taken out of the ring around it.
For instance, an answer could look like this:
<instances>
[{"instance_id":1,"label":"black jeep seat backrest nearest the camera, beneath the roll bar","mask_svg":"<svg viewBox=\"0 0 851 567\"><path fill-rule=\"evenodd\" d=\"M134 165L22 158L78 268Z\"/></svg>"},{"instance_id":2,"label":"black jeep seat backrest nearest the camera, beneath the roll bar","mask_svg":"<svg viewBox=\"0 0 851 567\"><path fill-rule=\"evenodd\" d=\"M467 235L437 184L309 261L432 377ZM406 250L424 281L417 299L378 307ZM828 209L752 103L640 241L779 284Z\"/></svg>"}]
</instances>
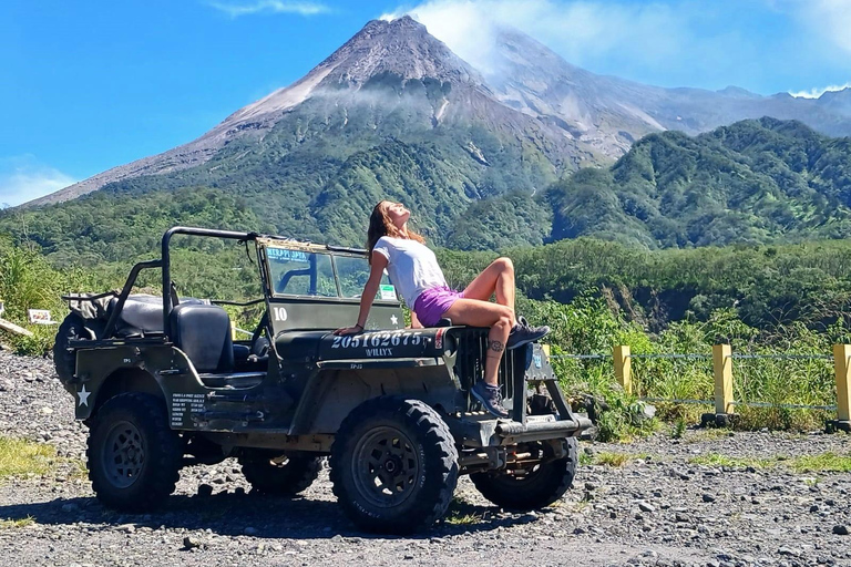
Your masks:
<instances>
[{"instance_id":1,"label":"black jeep seat backrest nearest the camera, beneath the roll bar","mask_svg":"<svg viewBox=\"0 0 851 567\"><path fill-rule=\"evenodd\" d=\"M181 303L172 309L170 326L175 347L186 353L198 373L234 371L227 311L217 306Z\"/></svg>"}]
</instances>

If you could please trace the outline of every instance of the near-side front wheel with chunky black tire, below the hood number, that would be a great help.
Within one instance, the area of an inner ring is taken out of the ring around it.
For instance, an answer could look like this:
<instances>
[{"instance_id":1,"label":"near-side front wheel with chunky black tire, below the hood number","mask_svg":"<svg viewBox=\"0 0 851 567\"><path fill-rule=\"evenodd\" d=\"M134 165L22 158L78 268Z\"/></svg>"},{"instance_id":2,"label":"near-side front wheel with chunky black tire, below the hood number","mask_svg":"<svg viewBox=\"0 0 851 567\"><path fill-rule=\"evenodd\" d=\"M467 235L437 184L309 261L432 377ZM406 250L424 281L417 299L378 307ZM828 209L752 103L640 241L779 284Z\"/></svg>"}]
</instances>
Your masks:
<instances>
[{"instance_id":1,"label":"near-side front wheel with chunky black tire, below the hood number","mask_svg":"<svg viewBox=\"0 0 851 567\"><path fill-rule=\"evenodd\" d=\"M458 484L452 434L419 400L382 396L357 406L340 425L330 466L340 506L369 532L431 526L447 513Z\"/></svg>"}]
</instances>

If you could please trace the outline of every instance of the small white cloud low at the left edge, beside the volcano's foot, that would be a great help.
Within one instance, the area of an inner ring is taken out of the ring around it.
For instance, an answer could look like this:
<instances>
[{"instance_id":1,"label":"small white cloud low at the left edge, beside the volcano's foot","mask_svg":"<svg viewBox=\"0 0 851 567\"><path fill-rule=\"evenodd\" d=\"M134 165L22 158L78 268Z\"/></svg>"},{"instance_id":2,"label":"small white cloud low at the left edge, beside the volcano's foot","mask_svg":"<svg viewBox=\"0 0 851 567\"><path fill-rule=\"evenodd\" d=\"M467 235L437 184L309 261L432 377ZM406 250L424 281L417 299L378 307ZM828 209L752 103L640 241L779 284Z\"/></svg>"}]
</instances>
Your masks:
<instances>
[{"instance_id":1,"label":"small white cloud low at the left edge, beside the volcano's foot","mask_svg":"<svg viewBox=\"0 0 851 567\"><path fill-rule=\"evenodd\" d=\"M16 206L65 188L76 179L32 155L0 158L0 206Z\"/></svg>"}]
</instances>

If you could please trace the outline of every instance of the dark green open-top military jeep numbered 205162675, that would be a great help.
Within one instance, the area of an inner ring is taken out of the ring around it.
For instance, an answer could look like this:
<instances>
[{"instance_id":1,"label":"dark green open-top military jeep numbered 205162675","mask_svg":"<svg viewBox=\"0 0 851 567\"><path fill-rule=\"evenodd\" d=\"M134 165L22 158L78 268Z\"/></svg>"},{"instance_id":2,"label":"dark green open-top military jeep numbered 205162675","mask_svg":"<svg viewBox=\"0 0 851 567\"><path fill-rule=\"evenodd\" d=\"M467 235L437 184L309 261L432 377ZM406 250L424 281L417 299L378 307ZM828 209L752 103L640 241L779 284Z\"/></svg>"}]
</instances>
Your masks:
<instances>
[{"instance_id":1,"label":"dark green open-top military jeep numbered 205162675","mask_svg":"<svg viewBox=\"0 0 851 567\"><path fill-rule=\"evenodd\" d=\"M223 302L178 296L175 235L253 251L264 292L240 305L264 315L250 337L235 338ZM162 271L162 297L131 293L142 270ZM368 530L430 526L461 474L505 508L558 499L575 474L575 437L591 422L565 403L545 350L506 351L500 385L510 419L495 419L470 395L488 329L404 328L387 276L363 332L332 334L357 319L368 276L362 249L175 227L162 257L136 264L120 292L66 296L72 312L54 360L90 430L98 498L147 511L174 491L182 466L227 457L252 492L296 495L330 456L334 494Z\"/></svg>"}]
</instances>

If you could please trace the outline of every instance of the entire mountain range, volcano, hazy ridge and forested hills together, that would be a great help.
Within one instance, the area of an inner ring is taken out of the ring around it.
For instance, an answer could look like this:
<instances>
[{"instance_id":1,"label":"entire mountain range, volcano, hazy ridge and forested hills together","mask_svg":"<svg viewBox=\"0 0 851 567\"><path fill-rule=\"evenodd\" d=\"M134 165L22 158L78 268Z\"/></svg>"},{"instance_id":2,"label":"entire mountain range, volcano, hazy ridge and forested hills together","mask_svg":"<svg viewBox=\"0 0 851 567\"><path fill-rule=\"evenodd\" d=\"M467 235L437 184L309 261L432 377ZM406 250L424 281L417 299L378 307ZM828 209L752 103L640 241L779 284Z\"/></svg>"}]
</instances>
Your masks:
<instances>
[{"instance_id":1,"label":"entire mountain range, volcano, hazy ridge and forested hills together","mask_svg":"<svg viewBox=\"0 0 851 567\"><path fill-rule=\"evenodd\" d=\"M191 223L362 244L371 207L390 198L431 241L458 248L584 234L650 248L845 234L844 182L788 162L816 159L809 146L769 159L725 146L717 130L689 134L763 114L848 134L851 91L804 100L647 86L571 65L514 30L500 33L493 62L473 69L411 18L371 21L198 140L0 212L0 230L25 231L60 260L123 259ZM842 141L800 123L746 124L730 128L782 147L779 132L803 128L844 171ZM763 193L738 196L753 187Z\"/></svg>"}]
</instances>

